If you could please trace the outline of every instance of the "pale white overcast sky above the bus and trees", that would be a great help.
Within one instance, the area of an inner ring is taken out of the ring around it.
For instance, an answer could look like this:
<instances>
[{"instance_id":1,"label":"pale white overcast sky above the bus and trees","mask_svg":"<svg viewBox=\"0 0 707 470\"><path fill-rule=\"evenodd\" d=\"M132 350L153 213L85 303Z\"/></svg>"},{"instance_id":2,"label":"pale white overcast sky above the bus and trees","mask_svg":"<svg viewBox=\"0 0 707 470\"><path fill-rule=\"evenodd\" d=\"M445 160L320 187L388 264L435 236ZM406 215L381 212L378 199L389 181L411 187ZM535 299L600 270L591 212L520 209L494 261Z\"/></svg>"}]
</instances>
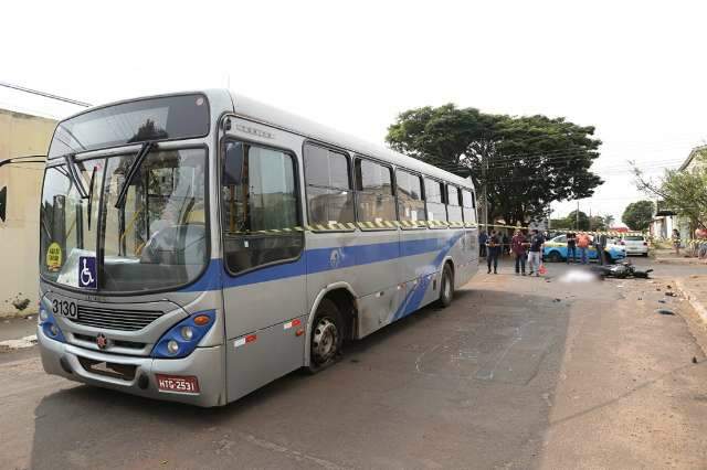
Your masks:
<instances>
[{"instance_id":1,"label":"pale white overcast sky above the bus and trees","mask_svg":"<svg viewBox=\"0 0 707 470\"><path fill-rule=\"evenodd\" d=\"M704 2L178 4L4 1L0 81L92 104L230 85L380 143L418 106L564 116L604 142L581 210L618 220L641 197L627 160L659 174L707 141ZM80 109L1 87L0 107Z\"/></svg>"}]
</instances>

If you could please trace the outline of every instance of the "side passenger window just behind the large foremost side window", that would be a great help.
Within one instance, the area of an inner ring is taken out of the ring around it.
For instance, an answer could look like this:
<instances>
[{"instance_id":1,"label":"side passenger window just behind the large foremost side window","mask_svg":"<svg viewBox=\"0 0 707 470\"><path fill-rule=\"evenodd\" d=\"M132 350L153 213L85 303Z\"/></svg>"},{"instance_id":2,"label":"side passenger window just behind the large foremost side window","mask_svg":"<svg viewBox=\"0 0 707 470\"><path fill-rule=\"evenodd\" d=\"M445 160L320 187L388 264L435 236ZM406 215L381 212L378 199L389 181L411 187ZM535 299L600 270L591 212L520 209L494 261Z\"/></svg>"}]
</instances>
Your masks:
<instances>
[{"instance_id":1,"label":"side passenger window just behind the large foremost side window","mask_svg":"<svg viewBox=\"0 0 707 470\"><path fill-rule=\"evenodd\" d=\"M346 154L306 143L304 161L309 223L354 222L354 191Z\"/></svg>"}]
</instances>

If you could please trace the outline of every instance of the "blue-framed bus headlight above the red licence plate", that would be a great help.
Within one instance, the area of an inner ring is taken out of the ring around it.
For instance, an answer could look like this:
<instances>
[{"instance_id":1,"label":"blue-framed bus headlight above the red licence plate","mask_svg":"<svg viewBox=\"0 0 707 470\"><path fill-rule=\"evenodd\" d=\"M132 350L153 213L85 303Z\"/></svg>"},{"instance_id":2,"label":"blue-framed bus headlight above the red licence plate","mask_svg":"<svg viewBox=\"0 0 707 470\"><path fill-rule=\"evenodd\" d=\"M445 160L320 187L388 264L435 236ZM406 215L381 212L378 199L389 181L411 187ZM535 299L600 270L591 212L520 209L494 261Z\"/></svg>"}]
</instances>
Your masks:
<instances>
[{"instance_id":1,"label":"blue-framed bus headlight above the red licence plate","mask_svg":"<svg viewBox=\"0 0 707 470\"><path fill-rule=\"evenodd\" d=\"M152 348L151 356L178 359L191 354L201 339L211 330L217 318L215 310L197 312L175 324Z\"/></svg>"}]
</instances>

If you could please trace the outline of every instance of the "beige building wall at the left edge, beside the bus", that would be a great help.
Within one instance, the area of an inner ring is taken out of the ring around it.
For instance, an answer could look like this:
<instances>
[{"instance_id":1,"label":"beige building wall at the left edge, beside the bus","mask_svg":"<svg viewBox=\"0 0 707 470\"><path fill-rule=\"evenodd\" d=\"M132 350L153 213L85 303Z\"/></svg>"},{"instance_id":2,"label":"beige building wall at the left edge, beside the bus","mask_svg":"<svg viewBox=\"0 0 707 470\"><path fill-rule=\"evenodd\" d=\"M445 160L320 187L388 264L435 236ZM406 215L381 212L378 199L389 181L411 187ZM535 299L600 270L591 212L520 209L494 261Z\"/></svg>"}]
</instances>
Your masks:
<instances>
[{"instance_id":1,"label":"beige building wall at the left edge, beside the bus","mask_svg":"<svg viewBox=\"0 0 707 470\"><path fill-rule=\"evenodd\" d=\"M46 154L56 121L0 109L0 162ZM15 162L0 167L0 313L36 310L39 215L43 165Z\"/></svg>"}]
</instances>

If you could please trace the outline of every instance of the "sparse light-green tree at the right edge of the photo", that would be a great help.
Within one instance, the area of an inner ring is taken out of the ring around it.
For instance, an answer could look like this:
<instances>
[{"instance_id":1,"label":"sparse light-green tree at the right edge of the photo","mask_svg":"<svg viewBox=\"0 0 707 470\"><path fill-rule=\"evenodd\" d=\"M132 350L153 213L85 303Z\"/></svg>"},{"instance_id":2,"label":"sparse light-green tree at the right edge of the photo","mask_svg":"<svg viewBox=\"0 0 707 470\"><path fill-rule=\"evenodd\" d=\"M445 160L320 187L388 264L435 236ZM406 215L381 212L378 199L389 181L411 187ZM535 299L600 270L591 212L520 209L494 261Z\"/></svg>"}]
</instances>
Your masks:
<instances>
[{"instance_id":1,"label":"sparse light-green tree at the right edge of the photo","mask_svg":"<svg viewBox=\"0 0 707 470\"><path fill-rule=\"evenodd\" d=\"M689 221L690 229L707 229L707 150L695 157L692 170L666 170L657 181L646 179L634 164L636 185L646 194L658 196L664 206Z\"/></svg>"}]
</instances>

